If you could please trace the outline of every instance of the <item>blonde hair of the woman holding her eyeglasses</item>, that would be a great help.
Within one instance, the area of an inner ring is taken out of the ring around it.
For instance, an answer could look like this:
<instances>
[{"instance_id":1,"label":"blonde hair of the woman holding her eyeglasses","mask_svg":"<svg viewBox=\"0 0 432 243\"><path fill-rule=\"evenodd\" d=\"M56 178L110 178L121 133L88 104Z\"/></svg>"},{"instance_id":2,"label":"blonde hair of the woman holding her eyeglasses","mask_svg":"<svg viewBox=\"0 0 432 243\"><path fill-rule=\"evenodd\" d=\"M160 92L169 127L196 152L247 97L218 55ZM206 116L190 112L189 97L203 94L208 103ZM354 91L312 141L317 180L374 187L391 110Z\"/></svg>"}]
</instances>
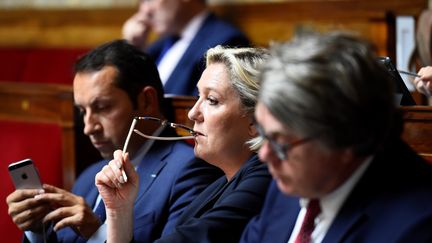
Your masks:
<instances>
[{"instance_id":1,"label":"blonde hair of the woman holding her eyeglasses","mask_svg":"<svg viewBox=\"0 0 432 243\"><path fill-rule=\"evenodd\" d=\"M260 88L260 69L269 54L263 48L226 48L216 46L207 51L206 65L222 63L228 70L230 81L239 95L242 112L253 117ZM257 151L262 144L261 137L255 137L247 143L252 151Z\"/></svg>"}]
</instances>

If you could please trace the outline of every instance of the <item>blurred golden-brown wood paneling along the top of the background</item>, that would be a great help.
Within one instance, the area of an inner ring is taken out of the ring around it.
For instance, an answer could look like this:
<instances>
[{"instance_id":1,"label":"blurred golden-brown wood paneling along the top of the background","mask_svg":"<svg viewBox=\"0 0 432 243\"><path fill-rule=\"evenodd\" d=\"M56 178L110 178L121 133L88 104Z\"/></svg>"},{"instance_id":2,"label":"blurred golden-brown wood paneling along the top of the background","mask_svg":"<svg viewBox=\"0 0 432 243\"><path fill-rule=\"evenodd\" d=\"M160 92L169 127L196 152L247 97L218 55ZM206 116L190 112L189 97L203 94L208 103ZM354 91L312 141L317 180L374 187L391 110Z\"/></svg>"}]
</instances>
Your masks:
<instances>
[{"instance_id":1,"label":"blurred golden-brown wood paneling along the top of the background","mask_svg":"<svg viewBox=\"0 0 432 243\"><path fill-rule=\"evenodd\" d=\"M380 54L394 52L395 15L418 16L427 0L287 0L212 5L218 15L267 45L298 28L351 30L370 39ZM0 46L94 47L121 37L135 8L0 10ZM217 34L217 33L215 33Z\"/></svg>"}]
</instances>

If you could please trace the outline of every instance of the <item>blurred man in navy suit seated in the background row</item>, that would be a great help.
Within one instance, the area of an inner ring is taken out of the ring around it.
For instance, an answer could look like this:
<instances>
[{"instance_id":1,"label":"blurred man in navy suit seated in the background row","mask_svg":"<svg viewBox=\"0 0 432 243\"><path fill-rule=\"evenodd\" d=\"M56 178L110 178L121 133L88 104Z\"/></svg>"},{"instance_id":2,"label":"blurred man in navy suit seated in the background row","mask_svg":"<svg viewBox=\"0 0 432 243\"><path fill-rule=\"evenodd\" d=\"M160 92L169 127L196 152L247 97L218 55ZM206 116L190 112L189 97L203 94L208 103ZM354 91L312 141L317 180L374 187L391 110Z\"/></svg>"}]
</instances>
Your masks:
<instances>
[{"instance_id":1,"label":"blurred man in navy suit seated in the background row","mask_svg":"<svg viewBox=\"0 0 432 243\"><path fill-rule=\"evenodd\" d=\"M148 45L150 31L161 38ZM205 0L141 1L123 37L155 58L165 93L175 95L197 95L207 49L249 45L240 30L209 12Z\"/></svg>"}]
</instances>

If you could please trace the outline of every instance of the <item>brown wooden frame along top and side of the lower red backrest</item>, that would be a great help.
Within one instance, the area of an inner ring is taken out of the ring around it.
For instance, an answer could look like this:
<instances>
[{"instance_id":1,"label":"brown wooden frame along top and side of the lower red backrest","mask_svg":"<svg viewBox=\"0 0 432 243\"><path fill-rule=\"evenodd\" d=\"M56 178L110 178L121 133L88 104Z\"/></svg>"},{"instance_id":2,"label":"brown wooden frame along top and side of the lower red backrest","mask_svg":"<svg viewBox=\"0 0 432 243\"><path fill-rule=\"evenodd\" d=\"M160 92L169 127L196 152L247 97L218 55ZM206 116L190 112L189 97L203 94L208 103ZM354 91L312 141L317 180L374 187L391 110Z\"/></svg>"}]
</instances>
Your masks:
<instances>
[{"instance_id":1,"label":"brown wooden frame along top and side of the lower red backrest","mask_svg":"<svg viewBox=\"0 0 432 243\"><path fill-rule=\"evenodd\" d=\"M75 139L71 86L2 81L0 119L60 126L63 186L72 188L75 181ZM43 138L31 139L43 141Z\"/></svg>"}]
</instances>

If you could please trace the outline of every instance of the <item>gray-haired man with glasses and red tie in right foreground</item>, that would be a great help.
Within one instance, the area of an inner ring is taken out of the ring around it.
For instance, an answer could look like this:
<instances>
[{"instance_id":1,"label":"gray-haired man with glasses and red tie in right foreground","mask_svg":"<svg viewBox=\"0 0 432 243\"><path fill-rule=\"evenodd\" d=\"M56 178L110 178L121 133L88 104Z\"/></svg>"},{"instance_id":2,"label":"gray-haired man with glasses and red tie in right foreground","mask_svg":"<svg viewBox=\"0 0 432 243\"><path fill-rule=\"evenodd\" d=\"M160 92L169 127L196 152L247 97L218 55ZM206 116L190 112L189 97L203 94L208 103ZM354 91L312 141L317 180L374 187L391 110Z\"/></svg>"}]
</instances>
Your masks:
<instances>
[{"instance_id":1,"label":"gray-haired man with glasses and red tie in right foreground","mask_svg":"<svg viewBox=\"0 0 432 243\"><path fill-rule=\"evenodd\" d=\"M255 117L274 181L241 242L432 242L432 167L369 44L304 34L272 54Z\"/></svg>"}]
</instances>

